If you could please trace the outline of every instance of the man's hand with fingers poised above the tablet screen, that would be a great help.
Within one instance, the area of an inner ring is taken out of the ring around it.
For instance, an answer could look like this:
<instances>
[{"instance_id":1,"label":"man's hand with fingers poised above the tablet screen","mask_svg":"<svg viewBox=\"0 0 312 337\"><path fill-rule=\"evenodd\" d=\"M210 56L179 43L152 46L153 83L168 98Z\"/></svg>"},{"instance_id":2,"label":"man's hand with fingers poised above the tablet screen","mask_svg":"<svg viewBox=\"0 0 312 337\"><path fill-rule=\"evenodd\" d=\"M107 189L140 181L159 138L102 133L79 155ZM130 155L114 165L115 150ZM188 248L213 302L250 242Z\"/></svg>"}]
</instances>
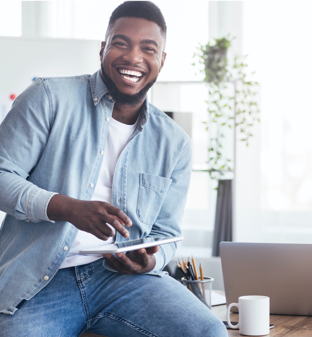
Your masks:
<instances>
[{"instance_id":1,"label":"man's hand with fingers poised above the tablet screen","mask_svg":"<svg viewBox=\"0 0 312 337\"><path fill-rule=\"evenodd\" d=\"M124 238L129 236L129 232L123 225L132 225L130 218L113 205L101 201L78 200L63 194L52 196L46 213L50 220L68 221L104 241L115 235L107 223Z\"/></svg>"}]
</instances>

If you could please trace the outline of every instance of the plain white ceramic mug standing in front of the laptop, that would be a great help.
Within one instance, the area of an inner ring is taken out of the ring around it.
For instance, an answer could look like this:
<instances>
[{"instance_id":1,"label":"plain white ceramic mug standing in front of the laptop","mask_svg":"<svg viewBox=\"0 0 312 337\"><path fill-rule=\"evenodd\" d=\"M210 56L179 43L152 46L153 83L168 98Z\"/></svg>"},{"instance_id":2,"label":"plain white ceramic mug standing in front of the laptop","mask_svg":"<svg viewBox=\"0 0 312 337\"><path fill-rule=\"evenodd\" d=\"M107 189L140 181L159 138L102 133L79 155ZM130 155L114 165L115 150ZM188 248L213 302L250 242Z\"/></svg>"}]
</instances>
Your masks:
<instances>
[{"instance_id":1,"label":"plain white ceramic mug standing in front of the laptop","mask_svg":"<svg viewBox=\"0 0 312 337\"><path fill-rule=\"evenodd\" d=\"M239 322L232 325L230 309L237 307ZM231 303L226 312L227 324L232 329L240 329L241 335L262 336L270 333L270 298L268 296L241 296L238 303Z\"/></svg>"}]
</instances>

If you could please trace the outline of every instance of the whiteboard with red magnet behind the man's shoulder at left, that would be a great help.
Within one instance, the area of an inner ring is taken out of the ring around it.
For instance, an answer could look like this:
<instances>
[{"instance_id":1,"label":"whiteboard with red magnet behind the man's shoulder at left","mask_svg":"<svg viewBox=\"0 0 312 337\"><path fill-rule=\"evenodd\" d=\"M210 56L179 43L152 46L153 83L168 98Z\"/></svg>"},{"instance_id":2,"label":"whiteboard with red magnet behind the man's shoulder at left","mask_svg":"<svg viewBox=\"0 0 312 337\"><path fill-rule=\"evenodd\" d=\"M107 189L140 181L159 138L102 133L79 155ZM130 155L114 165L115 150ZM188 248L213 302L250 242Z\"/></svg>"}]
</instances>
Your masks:
<instances>
[{"instance_id":1,"label":"whiteboard with red magnet behind the man's shoulder at left","mask_svg":"<svg viewBox=\"0 0 312 337\"><path fill-rule=\"evenodd\" d=\"M99 40L0 37L0 122L11 94L36 77L93 74L100 67Z\"/></svg>"}]
</instances>

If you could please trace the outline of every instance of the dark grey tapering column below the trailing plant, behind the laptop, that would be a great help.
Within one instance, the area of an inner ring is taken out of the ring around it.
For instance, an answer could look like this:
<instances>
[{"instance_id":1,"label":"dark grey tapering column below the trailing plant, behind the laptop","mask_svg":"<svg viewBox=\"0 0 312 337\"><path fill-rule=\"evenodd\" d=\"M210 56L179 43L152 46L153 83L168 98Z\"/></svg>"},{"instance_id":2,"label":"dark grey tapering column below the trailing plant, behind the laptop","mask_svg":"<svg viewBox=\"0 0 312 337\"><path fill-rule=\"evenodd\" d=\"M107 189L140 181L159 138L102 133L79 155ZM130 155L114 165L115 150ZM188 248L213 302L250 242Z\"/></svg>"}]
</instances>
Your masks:
<instances>
[{"instance_id":1,"label":"dark grey tapering column below the trailing plant, behind the laptop","mask_svg":"<svg viewBox=\"0 0 312 337\"><path fill-rule=\"evenodd\" d=\"M212 256L220 256L222 241L232 241L232 180L218 181Z\"/></svg>"}]
</instances>

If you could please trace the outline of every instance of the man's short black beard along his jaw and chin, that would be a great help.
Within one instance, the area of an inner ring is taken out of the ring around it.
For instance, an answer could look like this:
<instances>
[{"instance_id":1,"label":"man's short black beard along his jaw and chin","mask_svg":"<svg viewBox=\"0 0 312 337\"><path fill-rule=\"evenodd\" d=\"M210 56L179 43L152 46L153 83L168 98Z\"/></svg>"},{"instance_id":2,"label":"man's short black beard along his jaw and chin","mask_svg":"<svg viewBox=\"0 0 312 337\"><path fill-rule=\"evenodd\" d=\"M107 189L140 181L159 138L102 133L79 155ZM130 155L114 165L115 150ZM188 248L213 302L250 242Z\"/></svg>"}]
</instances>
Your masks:
<instances>
[{"instance_id":1,"label":"man's short black beard along his jaw and chin","mask_svg":"<svg viewBox=\"0 0 312 337\"><path fill-rule=\"evenodd\" d=\"M106 87L109 93L115 99L116 103L121 104L121 105L128 105L132 108L134 108L135 106L139 104L142 104L142 102L144 101L147 95L147 92L157 80L157 76L156 76L156 78L152 82L148 83L139 92L137 92L136 94L130 95L130 94L124 94L117 88L115 83L105 73L102 63L101 63L101 72L102 72L103 81L106 84Z\"/></svg>"}]
</instances>

